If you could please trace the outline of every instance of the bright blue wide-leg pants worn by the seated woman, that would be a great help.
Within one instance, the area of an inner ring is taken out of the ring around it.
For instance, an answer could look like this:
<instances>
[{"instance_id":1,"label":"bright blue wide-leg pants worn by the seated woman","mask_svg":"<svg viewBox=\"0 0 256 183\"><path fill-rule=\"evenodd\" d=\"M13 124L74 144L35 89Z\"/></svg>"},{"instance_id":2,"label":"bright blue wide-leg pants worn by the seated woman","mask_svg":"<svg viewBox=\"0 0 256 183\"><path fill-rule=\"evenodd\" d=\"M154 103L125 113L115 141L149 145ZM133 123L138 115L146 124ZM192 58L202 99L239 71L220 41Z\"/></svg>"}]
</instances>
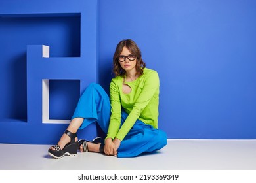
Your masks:
<instances>
[{"instance_id":1,"label":"bright blue wide-leg pants worn by the seated woman","mask_svg":"<svg viewBox=\"0 0 256 183\"><path fill-rule=\"evenodd\" d=\"M79 129L96 122L104 133L108 132L110 124L110 99L105 90L99 84L90 84L81 95L73 118L84 118ZM122 112L121 125L125 122L128 114ZM167 135L160 129L154 129L151 125L144 124L139 119L135 122L125 139L117 150L117 157L135 157L143 152L160 150L167 144Z\"/></svg>"}]
</instances>

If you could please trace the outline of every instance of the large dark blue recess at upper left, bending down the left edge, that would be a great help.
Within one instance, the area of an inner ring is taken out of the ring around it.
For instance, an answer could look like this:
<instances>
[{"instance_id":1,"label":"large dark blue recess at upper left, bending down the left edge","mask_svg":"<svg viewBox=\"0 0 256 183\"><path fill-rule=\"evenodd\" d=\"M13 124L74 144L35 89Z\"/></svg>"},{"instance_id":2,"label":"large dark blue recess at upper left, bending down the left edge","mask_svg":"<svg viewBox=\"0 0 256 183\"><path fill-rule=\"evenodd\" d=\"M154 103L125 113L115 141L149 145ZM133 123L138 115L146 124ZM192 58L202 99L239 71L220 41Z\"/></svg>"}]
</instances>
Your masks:
<instances>
[{"instance_id":1,"label":"large dark blue recess at upper left, bending down the left edge","mask_svg":"<svg viewBox=\"0 0 256 183\"><path fill-rule=\"evenodd\" d=\"M49 45L50 57L80 57L81 13L0 14L0 122L27 122L27 45Z\"/></svg>"}]
</instances>

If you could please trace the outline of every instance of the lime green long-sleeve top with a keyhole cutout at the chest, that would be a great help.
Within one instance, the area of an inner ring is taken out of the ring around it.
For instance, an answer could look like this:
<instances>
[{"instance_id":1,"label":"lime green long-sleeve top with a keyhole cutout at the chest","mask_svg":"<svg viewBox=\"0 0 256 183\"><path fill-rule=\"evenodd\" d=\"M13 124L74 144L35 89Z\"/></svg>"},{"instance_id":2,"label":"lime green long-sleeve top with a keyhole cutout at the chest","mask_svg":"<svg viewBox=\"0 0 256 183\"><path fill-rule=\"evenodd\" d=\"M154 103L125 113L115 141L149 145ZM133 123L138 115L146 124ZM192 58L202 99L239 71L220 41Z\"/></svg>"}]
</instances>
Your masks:
<instances>
[{"instance_id":1,"label":"lime green long-sleeve top with a keyhole cutout at the chest","mask_svg":"<svg viewBox=\"0 0 256 183\"><path fill-rule=\"evenodd\" d=\"M134 81L125 82L130 88L129 94L123 93L123 76L116 76L110 82L111 117L107 138L125 138L131 127L139 119L145 124L158 128L159 77L152 69L144 69L144 73ZM121 125L121 108L128 117ZM121 127L120 127L121 125Z\"/></svg>"}]
</instances>

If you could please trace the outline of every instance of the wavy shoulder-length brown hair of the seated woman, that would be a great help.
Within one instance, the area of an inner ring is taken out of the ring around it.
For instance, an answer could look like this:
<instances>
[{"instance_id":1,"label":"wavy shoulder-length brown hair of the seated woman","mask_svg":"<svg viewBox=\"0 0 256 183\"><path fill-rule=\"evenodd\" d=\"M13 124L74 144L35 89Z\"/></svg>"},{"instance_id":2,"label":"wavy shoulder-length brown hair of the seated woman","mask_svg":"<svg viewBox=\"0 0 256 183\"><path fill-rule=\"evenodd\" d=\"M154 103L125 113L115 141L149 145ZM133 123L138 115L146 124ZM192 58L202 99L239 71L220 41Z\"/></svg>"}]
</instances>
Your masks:
<instances>
[{"instance_id":1,"label":"wavy shoulder-length brown hair of the seated woman","mask_svg":"<svg viewBox=\"0 0 256 183\"><path fill-rule=\"evenodd\" d=\"M139 77L140 75L143 74L144 68L146 67L146 63L141 58L141 52L137 44L131 40L131 39L123 39L120 41L117 46L116 46L116 52L113 56L113 73L115 76L125 76L125 70L121 68L121 65L118 61L118 57L120 56L123 47L126 47L131 54L137 56L137 63L136 63L136 71L137 71L137 76Z\"/></svg>"}]
</instances>

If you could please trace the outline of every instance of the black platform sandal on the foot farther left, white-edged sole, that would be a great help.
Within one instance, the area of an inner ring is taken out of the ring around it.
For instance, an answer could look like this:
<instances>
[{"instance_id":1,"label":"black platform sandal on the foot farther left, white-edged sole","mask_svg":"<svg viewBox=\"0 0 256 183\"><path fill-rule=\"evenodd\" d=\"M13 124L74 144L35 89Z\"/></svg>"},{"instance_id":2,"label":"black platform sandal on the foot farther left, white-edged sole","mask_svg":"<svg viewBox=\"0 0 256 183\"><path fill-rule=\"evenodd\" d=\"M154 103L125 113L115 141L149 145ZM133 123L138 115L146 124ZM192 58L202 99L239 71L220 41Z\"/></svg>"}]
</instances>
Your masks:
<instances>
[{"instance_id":1,"label":"black platform sandal on the foot farther left, white-edged sole","mask_svg":"<svg viewBox=\"0 0 256 183\"><path fill-rule=\"evenodd\" d=\"M68 130L66 130L65 133L70 137L70 143L66 144L63 149L60 149L58 144L52 146L55 150L50 148L48 152L50 156L53 156L53 158L62 158L65 155L75 156L75 154L77 154L78 142L75 142L75 137L77 137L76 133L71 133Z\"/></svg>"}]
</instances>

